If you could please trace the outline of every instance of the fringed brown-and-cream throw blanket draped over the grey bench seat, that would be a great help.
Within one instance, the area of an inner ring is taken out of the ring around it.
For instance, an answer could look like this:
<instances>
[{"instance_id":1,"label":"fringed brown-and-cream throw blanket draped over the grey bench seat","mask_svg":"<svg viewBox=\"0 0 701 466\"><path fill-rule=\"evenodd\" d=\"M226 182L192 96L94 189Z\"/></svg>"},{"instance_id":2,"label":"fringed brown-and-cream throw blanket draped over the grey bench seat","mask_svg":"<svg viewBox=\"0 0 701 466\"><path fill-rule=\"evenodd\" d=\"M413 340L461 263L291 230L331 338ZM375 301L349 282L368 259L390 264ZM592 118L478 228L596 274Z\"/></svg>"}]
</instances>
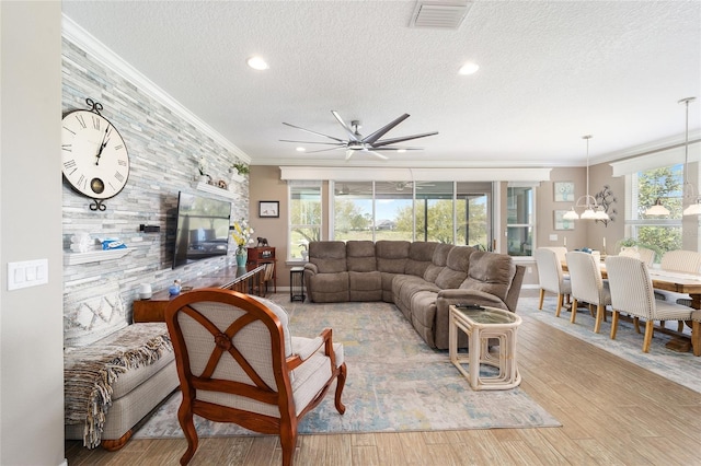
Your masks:
<instances>
[{"instance_id":1,"label":"fringed brown-and-cream throw blanket draped over the grey bench seat","mask_svg":"<svg viewBox=\"0 0 701 466\"><path fill-rule=\"evenodd\" d=\"M129 369L172 351L165 324L134 324L82 348L64 350L66 424L84 423L83 444L100 445L112 406L112 385Z\"/></svg>"}]
</instances>

